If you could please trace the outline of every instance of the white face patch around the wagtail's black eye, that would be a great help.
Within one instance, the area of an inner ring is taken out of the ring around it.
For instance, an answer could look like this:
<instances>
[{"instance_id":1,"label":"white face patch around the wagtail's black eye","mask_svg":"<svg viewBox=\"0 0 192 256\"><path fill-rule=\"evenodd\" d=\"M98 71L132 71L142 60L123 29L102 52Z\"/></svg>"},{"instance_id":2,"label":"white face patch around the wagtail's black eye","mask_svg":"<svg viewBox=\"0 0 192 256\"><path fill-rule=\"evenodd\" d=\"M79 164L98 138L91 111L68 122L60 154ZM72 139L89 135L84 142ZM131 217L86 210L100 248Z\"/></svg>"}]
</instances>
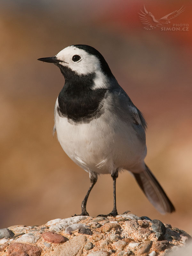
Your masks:
<instances>
[{"instance_id":1,"label":"white face patch around the wagtail's black eye","mask_svg":"<svg viewBox=\"0 0 192 256\"><path fill-rule=\"evenodd\" d=\"M79 55L81 59L73 61L72 58L74 55ZM61 65L71 68L78 75L88 75L101 70L100 61L96 56L76 48L73 45L61 50L56 57L58 60L61 60Z\"/></svg>"}]
</instances>

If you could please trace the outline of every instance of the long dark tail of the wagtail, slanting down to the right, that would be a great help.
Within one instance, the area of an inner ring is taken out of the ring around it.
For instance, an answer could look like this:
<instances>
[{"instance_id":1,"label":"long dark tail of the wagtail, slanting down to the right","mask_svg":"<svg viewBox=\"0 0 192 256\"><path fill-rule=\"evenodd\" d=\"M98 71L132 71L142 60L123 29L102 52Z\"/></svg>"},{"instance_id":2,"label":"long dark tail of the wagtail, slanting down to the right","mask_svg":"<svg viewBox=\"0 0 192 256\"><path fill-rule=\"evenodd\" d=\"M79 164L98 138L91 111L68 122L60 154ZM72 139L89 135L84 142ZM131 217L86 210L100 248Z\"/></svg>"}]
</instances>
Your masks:
<instances>
[{"instance_id":1,"label":"long dark tail of the wagtail, slanting down to the right","mask_svg":"<svg viewBox=\"0 0 192 256\"><path fill-rule=\"evenodd\" d=\"M159 212L165 214L166 212L175 211L172 202L146 164L143 172L133 173L133 175L148 200Z\"/></svg>"}]
</instances>

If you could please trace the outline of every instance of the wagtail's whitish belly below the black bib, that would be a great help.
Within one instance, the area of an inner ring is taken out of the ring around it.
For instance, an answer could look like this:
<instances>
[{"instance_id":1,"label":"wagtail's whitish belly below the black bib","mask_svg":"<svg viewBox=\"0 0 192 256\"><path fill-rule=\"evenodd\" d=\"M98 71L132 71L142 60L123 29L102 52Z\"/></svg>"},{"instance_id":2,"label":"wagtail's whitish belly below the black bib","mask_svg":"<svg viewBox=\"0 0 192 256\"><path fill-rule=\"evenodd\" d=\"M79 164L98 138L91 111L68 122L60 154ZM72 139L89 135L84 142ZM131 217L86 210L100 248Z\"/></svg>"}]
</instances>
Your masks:
<instances>
[{"instance_id":1,"label":"wagtail's whitish belly below the black bib","mask_svg":"<svg viewBox=\"0 0 192 256\"><path fill-rule=\"evenodd\" d=\"M75 124L55 111L55 127L63 150L87 172L130 170L146 156L146 146L134 129L111 118L110 113L87 124Z\"/></svg>"}]
</instances>

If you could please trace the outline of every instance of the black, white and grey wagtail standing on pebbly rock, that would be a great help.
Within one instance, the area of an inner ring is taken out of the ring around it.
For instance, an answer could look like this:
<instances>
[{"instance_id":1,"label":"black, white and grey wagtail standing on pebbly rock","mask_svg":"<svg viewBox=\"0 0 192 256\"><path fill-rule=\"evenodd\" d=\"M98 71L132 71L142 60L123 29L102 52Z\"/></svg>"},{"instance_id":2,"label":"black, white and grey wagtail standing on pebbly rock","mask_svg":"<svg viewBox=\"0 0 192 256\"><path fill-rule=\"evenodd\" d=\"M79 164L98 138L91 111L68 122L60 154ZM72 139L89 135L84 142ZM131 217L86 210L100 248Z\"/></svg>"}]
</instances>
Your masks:
<instances>
[{"instance_id":1,"label":"black, white and grey wagtail standing on pebbly rock","mask_svg":"<svg viewBox=\"0 0 192 256\"><path fill-rule=\"evenodd\" d=\"M145 119L100 52L77 44L54 57L38 60L54 63L65 77L55 104L54 130L66 154L89 172L91 185L81 204L81 215L89 215L87 199L98 174L111 174L113 178L114 207L108 215L117 215L116 178L122 170L133 174L159 212L174 212L173 204L144 162Z\"/></svg>"}]
</instances>

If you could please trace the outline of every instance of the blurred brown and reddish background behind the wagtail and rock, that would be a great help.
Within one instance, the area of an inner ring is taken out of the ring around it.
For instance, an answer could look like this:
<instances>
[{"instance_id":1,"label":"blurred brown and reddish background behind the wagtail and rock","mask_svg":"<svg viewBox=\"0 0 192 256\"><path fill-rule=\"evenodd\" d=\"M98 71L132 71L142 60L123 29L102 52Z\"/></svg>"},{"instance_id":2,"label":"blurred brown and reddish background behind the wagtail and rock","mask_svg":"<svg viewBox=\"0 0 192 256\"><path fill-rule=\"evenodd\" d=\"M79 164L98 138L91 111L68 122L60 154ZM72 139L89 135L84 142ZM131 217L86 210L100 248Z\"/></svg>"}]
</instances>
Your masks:
<instances>
[{"instance_id":1,"label":"blurred brown and reddish background behind the wagtail and rock","mask_svg":"<svg viewBox=\"0 0 192 256\"><path fill-rule=\"evenodd\" d=\"M176 207L161 215L130 173L117 180L117 210L160 219L192 233L192 2L169 25L145 30L140 9L156 19L180 1L1 0L0 228L40 225L81 212L90 185L52 137L53 108L64 85L59 68L37 61L71 44L88 44L107 60L148 122L146 163ZM184 27L184 25L182 25ZM91 216L113 207L110 175L99 177L87 203Z\"/></svg>"}]
</instances>

